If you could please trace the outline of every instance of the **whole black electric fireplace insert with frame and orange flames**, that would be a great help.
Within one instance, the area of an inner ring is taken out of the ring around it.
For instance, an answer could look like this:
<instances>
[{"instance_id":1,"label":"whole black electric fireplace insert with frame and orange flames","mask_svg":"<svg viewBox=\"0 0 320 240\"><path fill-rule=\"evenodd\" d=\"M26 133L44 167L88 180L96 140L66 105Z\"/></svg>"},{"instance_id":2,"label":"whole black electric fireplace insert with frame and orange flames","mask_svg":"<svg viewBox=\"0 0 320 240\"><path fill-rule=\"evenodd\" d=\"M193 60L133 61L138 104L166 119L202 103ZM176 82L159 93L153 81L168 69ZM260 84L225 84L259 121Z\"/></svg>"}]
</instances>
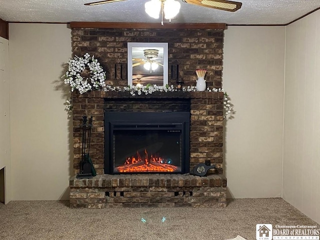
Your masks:
<instances>
[{"instance_id":1,"label":"whole black electric fireplace insert with frame and orange flames","mask_svg":"<svg viewBox=\"0 0 320 240\"><path fill-rule=\"evenodd\" d=\"M104 113L104 172L189 172L189 112Z\"/></svg>"}]
</instances>

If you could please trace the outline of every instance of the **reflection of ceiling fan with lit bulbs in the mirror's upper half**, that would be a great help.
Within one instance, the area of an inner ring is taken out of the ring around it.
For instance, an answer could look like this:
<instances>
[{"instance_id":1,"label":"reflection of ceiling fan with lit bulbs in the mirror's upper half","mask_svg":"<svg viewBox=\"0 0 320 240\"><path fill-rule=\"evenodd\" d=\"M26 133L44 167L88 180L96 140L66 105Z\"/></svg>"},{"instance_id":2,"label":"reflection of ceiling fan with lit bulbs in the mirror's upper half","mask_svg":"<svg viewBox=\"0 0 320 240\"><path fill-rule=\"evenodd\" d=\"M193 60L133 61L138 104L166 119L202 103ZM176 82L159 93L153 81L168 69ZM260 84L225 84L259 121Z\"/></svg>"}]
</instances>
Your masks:
<instances>
[{"instance_id":1,"label":"reflection of ceiling fan with lit bulbs in the mirror's upper half","mask_svg":"<svg viewBox=\"0 0 320 240\"><path fill-rule=\"evenodd\" d=\"M143 64L144 69L149 70L150 72L154 71L155 69L158 68L158 66L163 66L157 59L161 58L158 57L159 50L157 49L144 49L143 54L146 57L146 59L142 58L133 58L132 62L137 61L132 63L132 67L138 66Z\"/></svg>"}]
</instances>

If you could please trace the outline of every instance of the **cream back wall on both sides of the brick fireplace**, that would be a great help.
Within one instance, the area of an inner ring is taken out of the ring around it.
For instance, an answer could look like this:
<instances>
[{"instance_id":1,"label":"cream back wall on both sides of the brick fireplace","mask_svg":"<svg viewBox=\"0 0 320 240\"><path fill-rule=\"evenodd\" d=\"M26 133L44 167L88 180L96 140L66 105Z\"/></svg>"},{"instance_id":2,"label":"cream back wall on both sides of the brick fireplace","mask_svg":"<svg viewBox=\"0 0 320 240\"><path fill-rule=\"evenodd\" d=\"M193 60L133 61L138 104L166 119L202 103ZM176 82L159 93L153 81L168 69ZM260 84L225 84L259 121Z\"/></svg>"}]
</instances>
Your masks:
<instances>
[{"instance_id":1,"label":"cream back wall on both sides of the brick fireplace","mask_svg":"<svg viewBox=\"0 0 320 240\"><path fill-rule=\"evenodd\" d=\"M71 56L70 29L9 27L13 199L67 199L72 131L55 81ZM284 27L225 30L223 87L236 110L225 136L232 197L281 194L284 42Z\"/></svg>"}]
</instances>

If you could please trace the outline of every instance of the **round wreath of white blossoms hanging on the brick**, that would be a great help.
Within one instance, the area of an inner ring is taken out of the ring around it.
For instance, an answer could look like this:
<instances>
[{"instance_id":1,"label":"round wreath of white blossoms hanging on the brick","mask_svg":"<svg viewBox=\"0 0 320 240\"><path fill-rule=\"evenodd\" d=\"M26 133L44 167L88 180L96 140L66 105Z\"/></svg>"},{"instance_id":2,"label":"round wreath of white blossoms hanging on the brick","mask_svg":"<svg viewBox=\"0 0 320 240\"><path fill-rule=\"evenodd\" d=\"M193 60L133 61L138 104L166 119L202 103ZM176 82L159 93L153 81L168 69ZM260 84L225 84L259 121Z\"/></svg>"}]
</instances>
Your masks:
<instances>
[{"instance_id":1,"label":"round wreath of white blossoms hanging on the brick","mask_svg":"<svg viewBox=\"0 0 320 240\"><path fill-rule=\"evenodd\" d=\"M83 57L74 56L68 61L68 70L62 76L64 83L77 89L80 94L98 90L105 86L105 72L94 56L85 53Z\"/></svg>"}]
</instances>

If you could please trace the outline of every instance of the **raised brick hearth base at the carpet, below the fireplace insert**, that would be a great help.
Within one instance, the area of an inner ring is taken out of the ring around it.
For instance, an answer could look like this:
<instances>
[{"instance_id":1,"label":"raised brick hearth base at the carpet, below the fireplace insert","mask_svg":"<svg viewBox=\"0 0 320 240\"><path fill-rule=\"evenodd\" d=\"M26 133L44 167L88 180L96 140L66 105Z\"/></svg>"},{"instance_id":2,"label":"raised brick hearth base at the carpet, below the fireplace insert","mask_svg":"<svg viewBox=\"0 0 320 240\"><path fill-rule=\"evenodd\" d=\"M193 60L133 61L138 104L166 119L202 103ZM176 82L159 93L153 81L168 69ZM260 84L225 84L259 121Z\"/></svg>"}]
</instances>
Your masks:
<instances>
[{"instance_id":1,"label":"raised brick hearth base at the carpet, below the fireplace insert","mask_svg":"<svg viewBox=\"0 0 320 240\"><path fill-rule=\"evenodd\" d=\"M99 175L70 179L71 207L226 206L222 175Z\"/></svg>"}]
</instances>

